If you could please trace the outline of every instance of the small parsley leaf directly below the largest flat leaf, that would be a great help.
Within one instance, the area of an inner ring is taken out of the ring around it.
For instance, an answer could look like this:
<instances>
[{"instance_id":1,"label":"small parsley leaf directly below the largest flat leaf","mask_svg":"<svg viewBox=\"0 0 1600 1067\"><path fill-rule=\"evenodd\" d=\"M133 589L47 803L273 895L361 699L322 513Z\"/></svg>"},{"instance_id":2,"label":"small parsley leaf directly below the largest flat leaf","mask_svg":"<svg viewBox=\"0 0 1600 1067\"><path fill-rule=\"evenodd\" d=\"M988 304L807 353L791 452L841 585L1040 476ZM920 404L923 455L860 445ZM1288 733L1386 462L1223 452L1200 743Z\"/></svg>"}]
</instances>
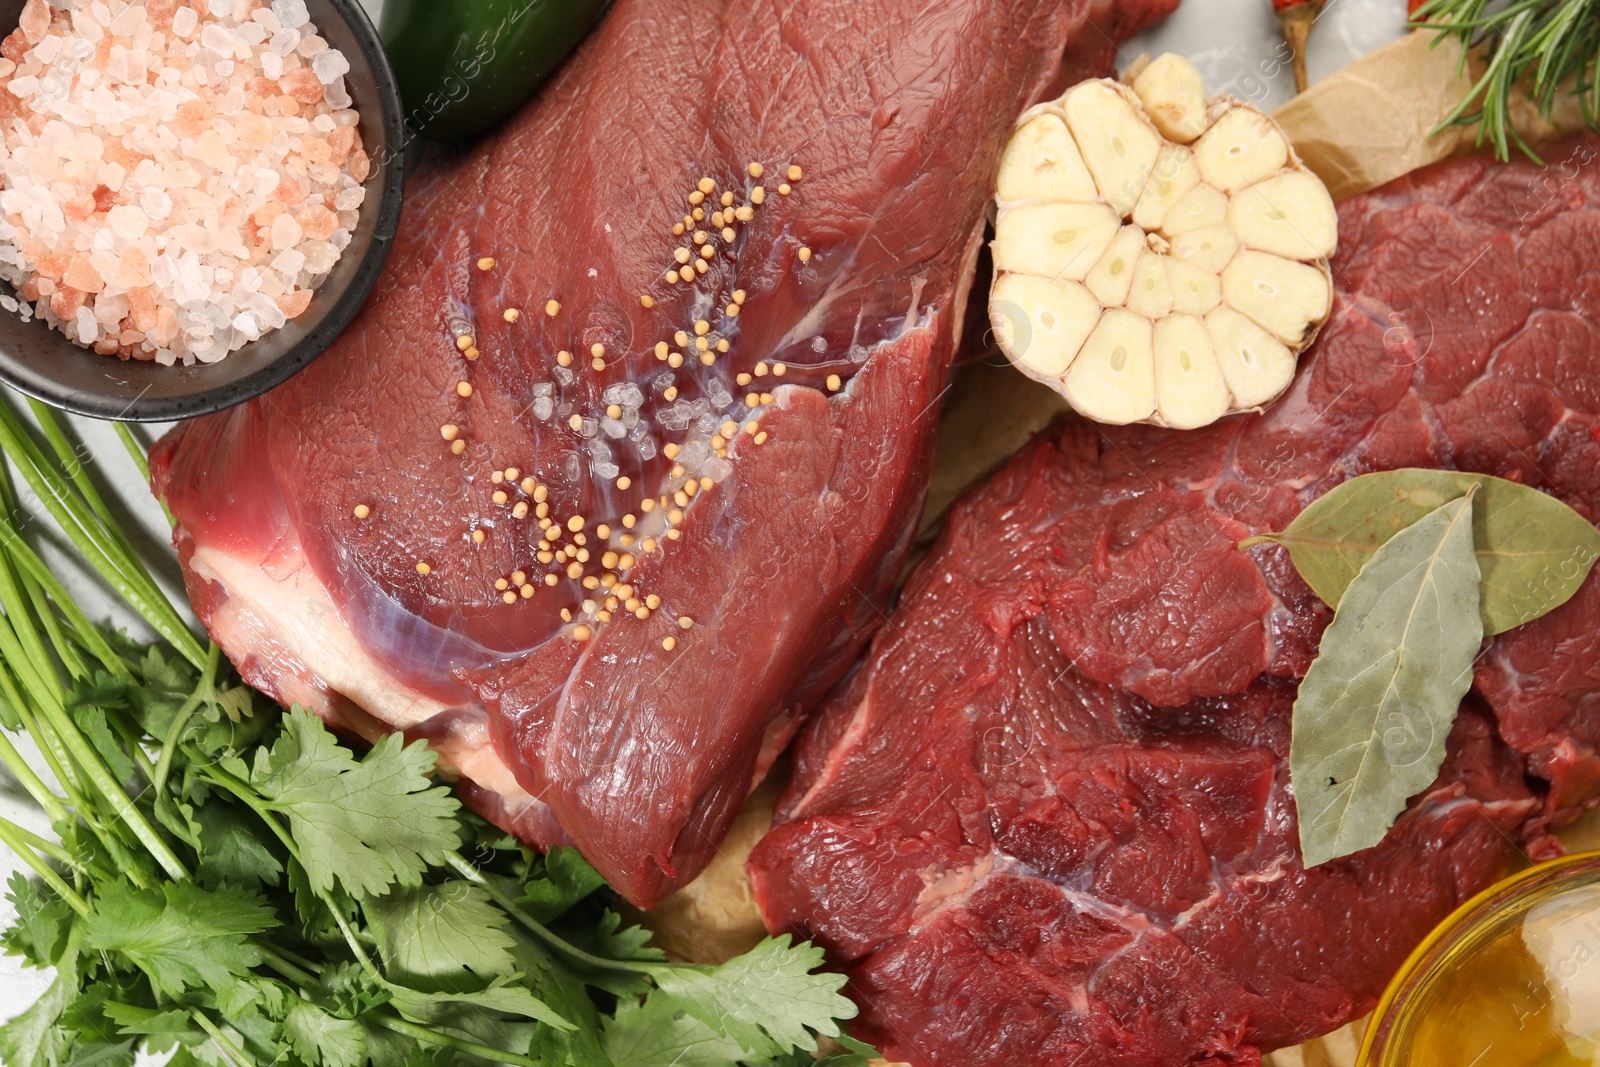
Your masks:
<instances>
[{"instance_id":1,"label":"small parsley leaf directly below the largest flat leaf","mask_svg":"<svg viewBox=\"0 0 1600 1067\"><path fill-rule=\"evenodd\" d=\"M384 966L406 985L466 992L517 969L506 912L467 881L395 889L362 910Z\"/></svg>"}]
</instances>

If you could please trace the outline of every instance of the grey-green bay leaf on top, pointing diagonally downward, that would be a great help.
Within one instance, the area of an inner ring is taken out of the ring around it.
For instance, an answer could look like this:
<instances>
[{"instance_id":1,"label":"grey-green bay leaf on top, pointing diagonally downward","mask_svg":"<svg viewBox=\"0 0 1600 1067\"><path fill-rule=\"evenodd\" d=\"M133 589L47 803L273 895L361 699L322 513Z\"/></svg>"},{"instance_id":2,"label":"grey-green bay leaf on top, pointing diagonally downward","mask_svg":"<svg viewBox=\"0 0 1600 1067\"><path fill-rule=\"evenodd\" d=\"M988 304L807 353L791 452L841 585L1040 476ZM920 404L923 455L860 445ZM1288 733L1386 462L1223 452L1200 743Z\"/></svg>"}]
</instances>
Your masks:
<instances>
[{"instance_id":1,"label":"grey-green bay leaf on top, pointing diagonally downward","mask_svg":"<svg viewBox=\"0 0 1600 1067\"><path fill-rule=\"evenodd\" d=\"M1381 841L1406 798L1438 776L1483 643L1475 494L1376 549L1322 635L1290 741L1307 867Z\"/></svg>"}]
</instances>

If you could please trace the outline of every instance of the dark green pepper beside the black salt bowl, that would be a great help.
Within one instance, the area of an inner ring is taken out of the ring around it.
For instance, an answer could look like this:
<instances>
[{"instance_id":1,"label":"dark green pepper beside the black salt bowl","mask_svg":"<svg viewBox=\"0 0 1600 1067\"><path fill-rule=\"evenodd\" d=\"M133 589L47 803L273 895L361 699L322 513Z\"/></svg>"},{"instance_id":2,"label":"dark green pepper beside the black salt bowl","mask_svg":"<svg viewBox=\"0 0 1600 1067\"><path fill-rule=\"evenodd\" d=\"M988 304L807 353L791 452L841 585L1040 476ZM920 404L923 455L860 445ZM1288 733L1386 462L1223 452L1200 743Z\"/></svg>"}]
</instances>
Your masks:
<instances>
[{"instance_id":1,"label":"dark green pepper beside the black salt bowl","mask_svg":"<svg viewBox=\"0 0 1600 1067\"><path fill-rule=\"evenodd\" d=\"M406 128L474 138L517 110L560 66L606 0L386 0L382 38Z\"/></svg>"}]
</instances>

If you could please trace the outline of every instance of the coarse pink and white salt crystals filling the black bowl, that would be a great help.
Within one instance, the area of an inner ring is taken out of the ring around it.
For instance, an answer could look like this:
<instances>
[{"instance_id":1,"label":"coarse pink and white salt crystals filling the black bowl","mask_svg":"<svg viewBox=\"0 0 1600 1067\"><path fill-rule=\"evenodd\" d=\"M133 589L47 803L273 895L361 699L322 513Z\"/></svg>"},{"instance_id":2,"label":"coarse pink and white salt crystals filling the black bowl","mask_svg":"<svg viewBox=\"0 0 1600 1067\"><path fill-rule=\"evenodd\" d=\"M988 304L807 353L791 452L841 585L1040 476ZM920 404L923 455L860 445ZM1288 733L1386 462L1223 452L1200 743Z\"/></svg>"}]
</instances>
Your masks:
<instances>
[{"instance_id":1,"label":"coarse pink and white salt crystals filling the black bowl","mask_svg":"<svg viewBox=\"0 0 1600 1067\"><path fill-rule=\"evenodd\" d=\"M302 314L365 202L302 0L27 0L0 45L0 278L78 344L211 363Z\"/></svg>"}]
</instances>

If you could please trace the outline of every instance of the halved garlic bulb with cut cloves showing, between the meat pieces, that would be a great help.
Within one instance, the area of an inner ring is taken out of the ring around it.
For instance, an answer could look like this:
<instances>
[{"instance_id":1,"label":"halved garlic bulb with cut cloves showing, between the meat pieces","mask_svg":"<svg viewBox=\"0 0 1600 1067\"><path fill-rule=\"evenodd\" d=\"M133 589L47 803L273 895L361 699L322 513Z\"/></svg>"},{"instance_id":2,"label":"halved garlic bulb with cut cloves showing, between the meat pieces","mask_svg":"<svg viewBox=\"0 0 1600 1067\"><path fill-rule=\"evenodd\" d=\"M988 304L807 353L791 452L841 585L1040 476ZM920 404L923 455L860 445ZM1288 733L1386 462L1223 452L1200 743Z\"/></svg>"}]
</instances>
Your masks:
<instances>
[{"instance_id":1,"label":"halved garlic bulb with cut cloves showing, between the meat pieces","mask_svg":"<svg viewBox=\"0 0 1600 1067\"><path fill-rule=\"evenodd\" d=\"M1261 408L1331 312L1328 189L1179 56L1027 110L995 202L1000 349L1096 422Z\"/></svg>"}]
</instances>

